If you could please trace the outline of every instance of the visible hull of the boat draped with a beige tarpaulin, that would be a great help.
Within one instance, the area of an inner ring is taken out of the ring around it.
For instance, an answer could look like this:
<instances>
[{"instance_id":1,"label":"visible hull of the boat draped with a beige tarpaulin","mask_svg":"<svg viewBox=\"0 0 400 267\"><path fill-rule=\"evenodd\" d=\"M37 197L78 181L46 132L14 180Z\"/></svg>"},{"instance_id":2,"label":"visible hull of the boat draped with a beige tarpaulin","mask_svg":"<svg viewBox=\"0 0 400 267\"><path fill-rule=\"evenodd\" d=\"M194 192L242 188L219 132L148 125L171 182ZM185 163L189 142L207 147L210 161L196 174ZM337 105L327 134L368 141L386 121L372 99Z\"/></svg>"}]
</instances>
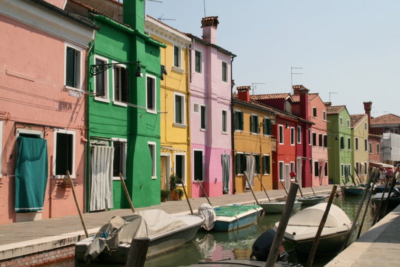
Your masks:
<instances>
[{"instance_id":1,"label":"visible hull of the boat draped with a beige tarpaulin","mask_svg":"<svg viewBox=\"0 0 400 267\"><path fill-rule=\"evenodd\" d=\"M165 253L190 242L194 238L194 235L200 228L201 224L204 222L203 217L196 215L177 215L176 217L185 221L186 225L151 237L146 254L147 258ZM92 240L93 237L89 237L75 244L75 258L78 260L84 260L87 245ZM129 248L130 243L119 244L116 250L102 252L95 260L124 263L129 254Z\"/></svg>"}]
</instances>

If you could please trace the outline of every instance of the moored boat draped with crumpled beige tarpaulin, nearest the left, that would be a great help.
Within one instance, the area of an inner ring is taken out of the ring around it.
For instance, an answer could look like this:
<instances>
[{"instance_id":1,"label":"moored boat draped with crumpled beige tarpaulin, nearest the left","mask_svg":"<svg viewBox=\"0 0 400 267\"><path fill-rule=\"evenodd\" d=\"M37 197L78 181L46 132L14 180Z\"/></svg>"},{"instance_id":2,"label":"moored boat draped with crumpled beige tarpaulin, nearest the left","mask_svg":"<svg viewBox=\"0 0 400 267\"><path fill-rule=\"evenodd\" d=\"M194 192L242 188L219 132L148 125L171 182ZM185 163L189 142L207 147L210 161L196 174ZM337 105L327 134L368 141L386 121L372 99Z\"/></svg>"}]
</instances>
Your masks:
<instances>
[{"instance_id":1,"label":"moored boat draped with crumpled beige tarpaulin, nearest the left","mask_svg":"<svg viewBox=\"0 0 400 267\"><path fill-rule=\"evenodd\" d=\"M198 215L170 215L160 209L114 216L97 234L75 243L78 260L125 262L133 237L150 239L146 257L152 257L191 241L204 222Z\"/></svg>"}]
</instances>

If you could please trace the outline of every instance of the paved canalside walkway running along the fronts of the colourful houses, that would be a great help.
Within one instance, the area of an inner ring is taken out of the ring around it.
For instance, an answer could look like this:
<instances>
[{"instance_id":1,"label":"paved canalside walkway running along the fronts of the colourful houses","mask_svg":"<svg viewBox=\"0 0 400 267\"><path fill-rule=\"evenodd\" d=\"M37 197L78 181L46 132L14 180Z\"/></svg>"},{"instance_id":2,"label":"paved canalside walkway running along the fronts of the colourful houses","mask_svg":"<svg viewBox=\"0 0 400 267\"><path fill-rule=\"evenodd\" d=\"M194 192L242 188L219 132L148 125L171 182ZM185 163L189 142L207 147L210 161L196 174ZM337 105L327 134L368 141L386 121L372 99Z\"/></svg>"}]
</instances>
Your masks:
<instances>
[{"instance_id":1,"label":"paved canalside walkway running along the fronts of the colourful houses","mask_svg":"<svg viewBox=\"0 0 400 267\"><path fill-rule=\"evenodd\" d=\"M332 185L313 187L315 193L330 192ZM301 188L304 195L312 194L310 187ZM286 195L284 190L268 190L271 200L282 200ZM260 203L267 202L268 199L263 191L255 192ZM225 194L216 197L209 197L213 206L231 203L255 203L251 192L240 194ZM205 197L190 198L193 212L202 203L207 203ZM150 207L136 208L143 209L162 209L167 213L190 213L187 201L166 201L159 205ZM114 209L103 212L93 212L83 214L83 219L89 234L95 233L100 226L114 215L131 214L130 209ZM36 253L66 245L72 245L84 237L84 231L78 215L63 216L58 218L41 219L36 221L16 222L0 225L0 260Z\"/></svg>"}]
</instances>

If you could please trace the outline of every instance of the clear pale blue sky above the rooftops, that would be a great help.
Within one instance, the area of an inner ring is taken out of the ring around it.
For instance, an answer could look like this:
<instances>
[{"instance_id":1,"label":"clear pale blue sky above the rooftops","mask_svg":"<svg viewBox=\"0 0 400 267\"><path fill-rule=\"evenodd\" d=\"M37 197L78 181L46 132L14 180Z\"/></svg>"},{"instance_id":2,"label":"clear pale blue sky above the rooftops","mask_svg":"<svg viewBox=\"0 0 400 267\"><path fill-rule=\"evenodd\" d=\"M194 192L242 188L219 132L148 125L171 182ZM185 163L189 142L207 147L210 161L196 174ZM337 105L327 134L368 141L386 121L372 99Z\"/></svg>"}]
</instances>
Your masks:
<instances>
[{"instance_id":1,"label":"clear pale blue sky above the rooftops","mask_svg":"<svg viewBox=\"0 0 400 267\"><path fill-rule=\"evenodd\" d=\"M147 0L147 14L198 37L204 9L218 16L217 45L236 54L237 86L258 83L260 94L302 84L350 114L372 101L372 116L400 115L399 0L161 1Z\"/></svg>"}]
</instances>

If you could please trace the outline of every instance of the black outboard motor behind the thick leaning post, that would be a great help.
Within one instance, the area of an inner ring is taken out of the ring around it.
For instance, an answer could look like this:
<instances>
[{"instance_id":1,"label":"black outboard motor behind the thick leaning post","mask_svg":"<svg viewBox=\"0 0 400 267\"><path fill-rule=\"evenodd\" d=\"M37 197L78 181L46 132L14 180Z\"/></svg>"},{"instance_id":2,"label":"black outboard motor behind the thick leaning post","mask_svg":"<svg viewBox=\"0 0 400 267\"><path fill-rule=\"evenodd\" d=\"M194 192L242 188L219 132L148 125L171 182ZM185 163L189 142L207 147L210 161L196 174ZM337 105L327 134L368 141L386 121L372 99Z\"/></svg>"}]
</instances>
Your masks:
<instances>
[{"instance_id":1,"label":"black outboard motor behind the thick leaning post","mask_svg":"<svg viewBox=\"0 0 400 267\"><path fill-rule=\"evenodd\" d=\"M276 231L274 229L268 229L258 236L251 247L252 252L250 254L250 260L266 261L275 233ZM283 247L280 247L276 261L285 261L288 256Z\"/></svg>"}]
</instances>

